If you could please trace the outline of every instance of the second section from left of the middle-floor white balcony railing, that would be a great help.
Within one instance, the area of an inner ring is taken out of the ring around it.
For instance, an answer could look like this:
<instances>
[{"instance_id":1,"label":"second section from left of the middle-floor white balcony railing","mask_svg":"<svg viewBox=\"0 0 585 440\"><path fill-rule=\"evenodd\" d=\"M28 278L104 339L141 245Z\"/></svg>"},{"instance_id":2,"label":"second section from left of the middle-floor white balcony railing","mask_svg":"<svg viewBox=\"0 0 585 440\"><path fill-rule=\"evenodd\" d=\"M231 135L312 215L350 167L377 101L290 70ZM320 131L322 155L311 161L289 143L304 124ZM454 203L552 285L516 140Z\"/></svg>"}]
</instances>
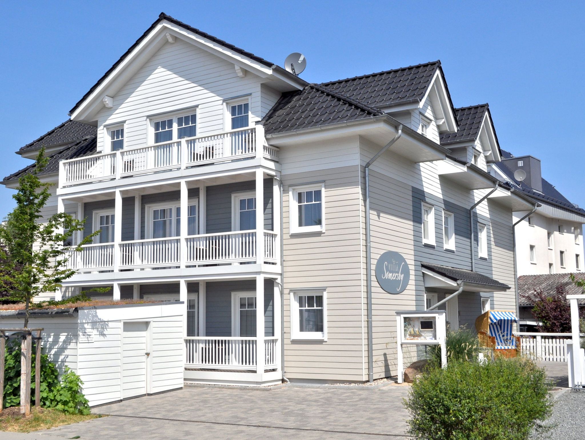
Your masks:
<instances>
[{"instance_id":1,"label":"second section from left of the middle-floor white balcony railing","mask_svg":"<svg viewBox=\"0 0 585 440\"><path fill-rule=\"evenodd\" d=\"M149 238L120 243L120 268L139 269L180 264L180 238Z\"/></svg>"}]
</instances>

